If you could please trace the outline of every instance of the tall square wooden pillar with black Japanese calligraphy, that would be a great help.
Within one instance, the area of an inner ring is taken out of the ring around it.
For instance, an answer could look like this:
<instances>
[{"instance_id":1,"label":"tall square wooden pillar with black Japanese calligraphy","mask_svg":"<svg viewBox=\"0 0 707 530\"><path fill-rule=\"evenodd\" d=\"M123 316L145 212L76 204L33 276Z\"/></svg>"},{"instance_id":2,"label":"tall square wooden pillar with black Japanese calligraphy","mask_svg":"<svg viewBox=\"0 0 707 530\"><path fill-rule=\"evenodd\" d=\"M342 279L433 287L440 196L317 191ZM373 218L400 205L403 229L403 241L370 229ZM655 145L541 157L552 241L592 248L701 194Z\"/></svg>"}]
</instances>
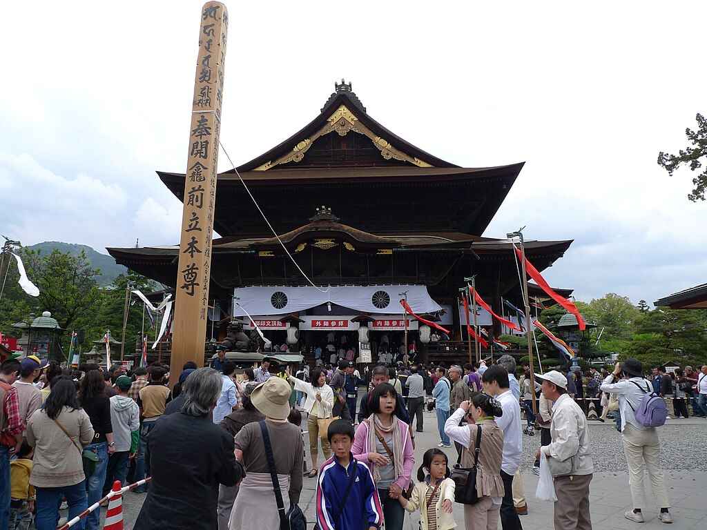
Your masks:
<instances>
[{"instance_id":1,"label":"tall square wooden pillar with black Japanese calligraphy","mask_svg":"<svg viewBox=\"0 0 707 530\"><path fill-rule=\"evenodd\" d=\"M184 211L177 269L171 373L175 380L187 360L203 363L209 307L211 232L216 205L218 134L223 102L228 11L221 2L201 8L199 56L189 126Z\"/></svg>"}]
</instances>

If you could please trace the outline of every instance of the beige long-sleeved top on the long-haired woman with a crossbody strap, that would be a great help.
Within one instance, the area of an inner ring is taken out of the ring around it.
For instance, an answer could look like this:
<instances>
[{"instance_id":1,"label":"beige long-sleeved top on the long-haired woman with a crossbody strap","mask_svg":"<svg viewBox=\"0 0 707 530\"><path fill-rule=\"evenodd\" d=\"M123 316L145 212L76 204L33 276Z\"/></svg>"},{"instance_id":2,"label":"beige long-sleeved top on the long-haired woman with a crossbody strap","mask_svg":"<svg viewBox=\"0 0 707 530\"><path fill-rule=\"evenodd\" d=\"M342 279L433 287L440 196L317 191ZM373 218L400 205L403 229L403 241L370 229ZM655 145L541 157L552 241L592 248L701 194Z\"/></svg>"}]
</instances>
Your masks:
<instances>
[{"instance_id":1,"label":"beige long-sleeved top on the long-haired woman with a crossbody strap","mask_svg":"<svg viewBox=\"0 0 707 530\"><path fill-rule=\"evenodd\" d=\"M83 408L64 407L57 421L79 447L93 440L93 426ZM30 484L38 488L59 488L78 484L83 475L81 452L43 408L36 411L27 424L27 442L35 448Z\"/></svg>"}]
</instances>

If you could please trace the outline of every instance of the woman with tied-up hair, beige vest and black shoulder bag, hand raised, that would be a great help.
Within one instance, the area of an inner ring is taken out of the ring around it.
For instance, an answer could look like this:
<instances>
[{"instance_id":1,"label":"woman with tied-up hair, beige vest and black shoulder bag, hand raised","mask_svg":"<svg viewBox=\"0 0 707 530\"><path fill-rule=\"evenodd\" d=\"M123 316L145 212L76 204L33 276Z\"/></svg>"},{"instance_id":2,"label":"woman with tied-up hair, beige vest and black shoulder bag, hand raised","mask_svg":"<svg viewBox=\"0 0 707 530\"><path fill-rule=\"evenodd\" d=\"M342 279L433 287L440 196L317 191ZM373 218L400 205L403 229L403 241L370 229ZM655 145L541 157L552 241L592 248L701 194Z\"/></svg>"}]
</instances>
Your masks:
<instances>
[{"instance_id":1,"label":"woman with tied-up hair, beige vest and black shoulder bag, hand raised","mask_svg":"<svg viewBox=\"0 0 707 530\"><path fill-rule=\"evenodd\" d=\"M459 426L464 416L469 422ZM489 394L476 394L471 401L462 401L460 407L449 417L445 432L462 445L462 467L474 466L474 453L479 442L479 464L477 466L477 494L479 502L464 505L464 525L467 530L496 530L503 499L501 460L503 459L503 430L496 425L494 416L503 416L501 404Z\"/></svg>"}]
</instances>

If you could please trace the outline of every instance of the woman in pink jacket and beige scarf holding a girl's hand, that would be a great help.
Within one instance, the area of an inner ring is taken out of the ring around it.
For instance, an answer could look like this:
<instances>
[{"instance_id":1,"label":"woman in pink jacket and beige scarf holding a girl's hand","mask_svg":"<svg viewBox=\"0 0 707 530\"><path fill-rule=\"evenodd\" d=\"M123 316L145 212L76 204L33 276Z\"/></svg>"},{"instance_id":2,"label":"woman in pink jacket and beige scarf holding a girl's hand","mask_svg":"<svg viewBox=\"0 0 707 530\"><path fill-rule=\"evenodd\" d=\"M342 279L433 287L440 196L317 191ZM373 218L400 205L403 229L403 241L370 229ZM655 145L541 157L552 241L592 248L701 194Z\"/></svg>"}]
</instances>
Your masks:
<instances>
[{"instance_id":1,"label":"woman in pink jacket and beige scarf holding a girl's hand","mask_svg":"<svg viewBox=\"0 0 707 530\"><path fill-rule=\"evenodd\" d=\"M410 485L415 464L409 425L395 416L395 396L388 383L373 389L368 403L372 413L358 425L351 449L373 473L386 530L402 530L405 510L398 498Z\"/></svg>"}]
</instances>

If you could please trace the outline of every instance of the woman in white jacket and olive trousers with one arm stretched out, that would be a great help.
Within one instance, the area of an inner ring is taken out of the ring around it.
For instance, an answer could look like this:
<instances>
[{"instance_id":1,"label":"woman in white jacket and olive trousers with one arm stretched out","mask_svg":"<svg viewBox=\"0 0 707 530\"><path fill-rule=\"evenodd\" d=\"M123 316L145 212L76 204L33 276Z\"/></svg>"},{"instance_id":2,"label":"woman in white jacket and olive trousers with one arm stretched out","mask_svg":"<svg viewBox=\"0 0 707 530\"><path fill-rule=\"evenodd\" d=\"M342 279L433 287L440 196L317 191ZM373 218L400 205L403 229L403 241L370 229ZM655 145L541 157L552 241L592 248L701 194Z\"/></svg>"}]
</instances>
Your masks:
<instances>
[{"instance_id":1,"label":"woman in white jacket and olive trousers with one arm stretched out","mask_svg":"<svg viewBox=\"0 0 707 530\"><path fill-rule=\"evenodd\" d=\"M332 446L327 440L327 433L320 432L319 420L332 418L334 408L334 391L327 384L327 372L321 367L312 370L312 382L308 383L302 379L297 379L292 375L289 380L295 384L295 390L305 394L305 406L307 411L307 430L310 437L310 457L312 459L312 469L309 477L317 476L319 466L317 465L317 454L319 453L319 441L322 440L322 452L324 459L332 456Z\"/></svg>"}]
</instances>

